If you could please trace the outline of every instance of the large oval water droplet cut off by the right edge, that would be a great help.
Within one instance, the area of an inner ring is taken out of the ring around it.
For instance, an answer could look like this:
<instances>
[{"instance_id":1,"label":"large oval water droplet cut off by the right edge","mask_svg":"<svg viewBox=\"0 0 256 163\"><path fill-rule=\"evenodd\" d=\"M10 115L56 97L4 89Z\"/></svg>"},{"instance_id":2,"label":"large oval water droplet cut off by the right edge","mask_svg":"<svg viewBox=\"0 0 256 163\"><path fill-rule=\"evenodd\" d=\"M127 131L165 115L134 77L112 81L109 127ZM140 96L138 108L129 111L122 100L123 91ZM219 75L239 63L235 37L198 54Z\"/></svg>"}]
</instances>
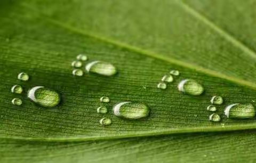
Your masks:
<instances>
[{"instance_id":1,"label":"large oval water droplet cut off by the right edge","mask_svg":"<svg viewBox=\"0 0 256 163\"><path fill-rule=\"evenodd\" d=\"M235 103L228 105L225 108L225 115L228 118L235 118L235 119L246 119L246 118L254 118L255 117L255 109L252 104L240 104Z\"/></svg>"}]
</instances>

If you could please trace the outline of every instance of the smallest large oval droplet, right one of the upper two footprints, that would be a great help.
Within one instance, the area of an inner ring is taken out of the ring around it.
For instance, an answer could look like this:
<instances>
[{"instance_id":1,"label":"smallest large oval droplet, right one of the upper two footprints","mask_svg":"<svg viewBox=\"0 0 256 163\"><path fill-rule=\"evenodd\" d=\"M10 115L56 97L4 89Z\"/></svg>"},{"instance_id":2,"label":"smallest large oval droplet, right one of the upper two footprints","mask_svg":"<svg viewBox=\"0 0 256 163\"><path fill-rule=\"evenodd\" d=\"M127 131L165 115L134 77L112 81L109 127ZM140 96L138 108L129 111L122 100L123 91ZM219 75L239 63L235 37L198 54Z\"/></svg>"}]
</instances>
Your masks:
<instances>
[{"instance_id":1,"label":"smallest large oval droplet, right one of the upper two footprints","mask_svg":"<svg viewBox=\"0 0 256 163\"><path fill-rule=\"evenodd\" d=\"M204 92L204 88L201 84L198 84L197 81L190 79L180 81L178 88L179 91L190 95L201 95Z\"/></svg>"}]
</instances>

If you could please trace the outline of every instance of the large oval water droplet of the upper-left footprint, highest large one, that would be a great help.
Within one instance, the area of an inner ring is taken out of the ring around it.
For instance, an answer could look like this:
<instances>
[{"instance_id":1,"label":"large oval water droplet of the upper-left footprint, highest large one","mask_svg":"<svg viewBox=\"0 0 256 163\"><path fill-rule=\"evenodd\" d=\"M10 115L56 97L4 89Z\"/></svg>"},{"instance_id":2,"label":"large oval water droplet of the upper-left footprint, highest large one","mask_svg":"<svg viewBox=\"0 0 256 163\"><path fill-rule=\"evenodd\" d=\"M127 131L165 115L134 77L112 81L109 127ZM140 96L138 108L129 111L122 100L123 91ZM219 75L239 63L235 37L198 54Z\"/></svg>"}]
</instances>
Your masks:
<instances>
[{"instance_id":1,"label":"large oval water droplet of the upper-left footprint, highest large one","mask_svg":"<svg viewBox=\"0 0 256 163\"><path fill-rule=\"evenodd\" d=\"M113 64L102 61L93 61L85 66L86 71L104 76L113 76L117 70Z\"/></svg>"}]
</instances>

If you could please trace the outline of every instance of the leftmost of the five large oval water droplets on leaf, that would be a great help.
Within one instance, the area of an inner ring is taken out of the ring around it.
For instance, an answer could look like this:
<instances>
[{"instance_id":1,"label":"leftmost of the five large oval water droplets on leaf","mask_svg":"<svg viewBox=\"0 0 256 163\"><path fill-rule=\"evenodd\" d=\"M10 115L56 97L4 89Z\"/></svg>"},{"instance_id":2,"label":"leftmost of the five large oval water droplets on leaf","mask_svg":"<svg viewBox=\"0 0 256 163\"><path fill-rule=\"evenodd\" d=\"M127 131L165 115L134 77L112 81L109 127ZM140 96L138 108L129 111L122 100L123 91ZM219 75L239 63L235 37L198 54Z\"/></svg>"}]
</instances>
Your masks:
<instances>
[{"instance_id":1,"label":"leftmost of the five large oval water droplets on leaf","mask_svg":"<svg viewBox=\"0 0 256 163\"><path fill-rule=\"evenodd\" d=\"M28 91L28 98L42 107L52 108L60 103L60 95L43 86L36 86Z\"/></svg>"}]
</instances>

